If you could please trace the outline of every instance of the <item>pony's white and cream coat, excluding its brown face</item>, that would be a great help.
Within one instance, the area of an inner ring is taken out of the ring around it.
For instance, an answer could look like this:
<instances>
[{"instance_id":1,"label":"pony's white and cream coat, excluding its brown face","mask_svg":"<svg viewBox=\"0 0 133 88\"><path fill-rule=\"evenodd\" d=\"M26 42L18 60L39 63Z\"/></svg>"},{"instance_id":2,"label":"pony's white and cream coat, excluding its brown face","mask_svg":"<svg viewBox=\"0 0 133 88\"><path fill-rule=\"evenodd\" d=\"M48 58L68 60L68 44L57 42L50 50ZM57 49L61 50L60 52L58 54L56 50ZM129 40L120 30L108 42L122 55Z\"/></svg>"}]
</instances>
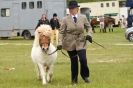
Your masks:
<instances>
[{"instance_id":1,"label":"pony's white and cream coat, excluding its brown face","mask_svg":"<svg viewBox=\"0 0 133 88\"><path fill-rule=\"evenodd\" d=\"M48 31L46 32L45 30ZM38 69L38 77L42 80L42 84L45 85L51 81L53 75L53 65L57 58L57 52L52 55L48 55L56 50L53 44L50 43L48 51L45 53L42 51L39 44L39 35L41 33L50 36L51 27L48 25L40 26L35 31L35 39L31 51L31 58Z\"/></svg>"}]
</instances>

